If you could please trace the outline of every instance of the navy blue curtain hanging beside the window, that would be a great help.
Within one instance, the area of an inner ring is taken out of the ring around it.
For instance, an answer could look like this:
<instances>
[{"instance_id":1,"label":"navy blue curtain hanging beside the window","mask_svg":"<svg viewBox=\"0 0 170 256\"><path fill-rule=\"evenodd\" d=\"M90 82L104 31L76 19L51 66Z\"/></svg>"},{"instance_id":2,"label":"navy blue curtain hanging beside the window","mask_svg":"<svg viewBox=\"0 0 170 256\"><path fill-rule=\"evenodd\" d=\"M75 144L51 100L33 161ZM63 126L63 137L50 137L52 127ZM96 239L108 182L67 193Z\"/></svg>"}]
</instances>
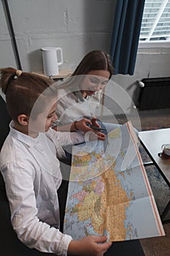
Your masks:
<instances>
[{"instance_id":1,"label":"navy blue curtain hanging beside the window","mask_svg":"<svg viewBox=\"0 0 170 256\"><path fill-rule=\"evenodd\" d=\"M116 74L134 74L144 0L117 0L110 56Z\"/></svg>"}]
</instances>

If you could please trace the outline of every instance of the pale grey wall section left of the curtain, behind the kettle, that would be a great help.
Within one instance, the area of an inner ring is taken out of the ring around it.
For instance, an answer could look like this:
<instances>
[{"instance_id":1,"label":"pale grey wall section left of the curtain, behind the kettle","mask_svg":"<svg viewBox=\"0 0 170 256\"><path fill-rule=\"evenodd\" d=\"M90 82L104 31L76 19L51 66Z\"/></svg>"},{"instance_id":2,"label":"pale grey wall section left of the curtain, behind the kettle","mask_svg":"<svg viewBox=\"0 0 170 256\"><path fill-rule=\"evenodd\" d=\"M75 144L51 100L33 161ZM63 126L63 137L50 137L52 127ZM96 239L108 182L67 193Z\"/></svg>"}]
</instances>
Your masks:
<instances>
[{"instance_id":1,"label":"pale grey wall section left of the curtain, behind the kettle","mask_svg":"<svg viewBox=\"0 0 170 256\"><path fill-rule=\"evenodd\" d=\"M1 2L0 54L3 59L0 67L16 67ZM92 49L109 51L112 0L8 0L8 3L25 71L42 70L40 49L45 46L63 49L62 69L74 69Z\"/></svg>"}]
</instances>

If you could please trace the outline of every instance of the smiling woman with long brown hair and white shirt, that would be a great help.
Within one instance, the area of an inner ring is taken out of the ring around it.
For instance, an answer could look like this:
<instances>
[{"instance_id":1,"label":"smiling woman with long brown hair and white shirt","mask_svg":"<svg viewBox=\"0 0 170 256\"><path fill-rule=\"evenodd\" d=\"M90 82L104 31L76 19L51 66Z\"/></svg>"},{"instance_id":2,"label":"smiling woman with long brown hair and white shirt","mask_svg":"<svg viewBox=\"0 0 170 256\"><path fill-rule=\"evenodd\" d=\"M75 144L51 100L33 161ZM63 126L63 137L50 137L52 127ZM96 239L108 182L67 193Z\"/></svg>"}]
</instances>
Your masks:
<instances>
[{"instance_id":1,"label":"smiling woman with long brown hair and white shirt","mask_svg":"<svg viewBox=\"0 0 170 256\"><path fill-rule=\"evenodd\" d=\"M93 50L85 55L72 76L58 86L58 121L53 124L53 129L88 132L105 126L109 132L118 127L118 124L101 124L96 118L98 107L103 104L104 88L112 74L107 53Z\"/></svg>"}]
</instances>

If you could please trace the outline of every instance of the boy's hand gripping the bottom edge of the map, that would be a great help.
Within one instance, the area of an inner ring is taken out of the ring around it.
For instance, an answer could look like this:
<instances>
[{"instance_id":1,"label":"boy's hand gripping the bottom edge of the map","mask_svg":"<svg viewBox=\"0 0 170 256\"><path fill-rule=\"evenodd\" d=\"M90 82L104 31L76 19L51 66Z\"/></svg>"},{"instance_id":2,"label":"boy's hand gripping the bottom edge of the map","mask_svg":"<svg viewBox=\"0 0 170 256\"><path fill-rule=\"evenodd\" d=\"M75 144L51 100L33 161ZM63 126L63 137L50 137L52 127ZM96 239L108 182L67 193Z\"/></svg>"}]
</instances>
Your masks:
<instances>
[{"instance_id":1,"label":"boy's hand gripping the bottom edge of the map","mask_svg":"<svg viewBox=\"0 0 170 256\"><path fill-rule=\"evenodd\" d=\"M72 240L69 244L68 253L82 256L103 256L111 245L111 242L107 242L107 236L87 236L80 241Z\"/></svg>"}]
</instances>

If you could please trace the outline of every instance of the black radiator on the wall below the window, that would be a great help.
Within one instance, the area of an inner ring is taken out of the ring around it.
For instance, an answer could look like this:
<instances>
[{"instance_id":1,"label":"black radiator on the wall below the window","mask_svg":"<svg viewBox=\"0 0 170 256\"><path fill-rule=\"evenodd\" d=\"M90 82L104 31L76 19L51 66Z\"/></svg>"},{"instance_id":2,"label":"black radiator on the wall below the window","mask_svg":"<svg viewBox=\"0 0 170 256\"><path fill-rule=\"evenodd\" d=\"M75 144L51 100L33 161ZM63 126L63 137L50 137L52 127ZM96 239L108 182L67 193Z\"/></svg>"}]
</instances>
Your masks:
<instances>
[{"instance_id":1,"label":"black radiator on the wall below the window","mask_svg":"<svg viewBox=\"0 0 170 256\"><path fill-rule=\"evenodd\" d=\"M170 78L144 78L140 89L139 110L170 108Z\"/></svg>"}]
</instances>

